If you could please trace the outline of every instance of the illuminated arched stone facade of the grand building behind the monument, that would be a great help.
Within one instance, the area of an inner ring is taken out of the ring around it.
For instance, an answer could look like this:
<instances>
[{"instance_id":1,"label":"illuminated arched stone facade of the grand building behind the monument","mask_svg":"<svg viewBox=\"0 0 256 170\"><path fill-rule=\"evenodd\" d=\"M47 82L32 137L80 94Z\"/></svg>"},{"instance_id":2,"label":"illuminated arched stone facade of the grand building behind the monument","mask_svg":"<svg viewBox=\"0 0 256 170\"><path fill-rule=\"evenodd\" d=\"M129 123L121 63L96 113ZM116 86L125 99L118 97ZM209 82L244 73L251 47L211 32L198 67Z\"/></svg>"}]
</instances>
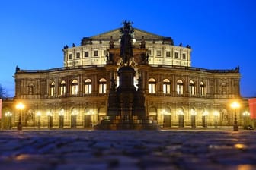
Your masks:
<instances>
[{"instance_id":1,"label":"illuminated arched stone facade of the grand building behind the monument","mask_svg":"<svg viewBox=\"0 0 256 170\"><path fill-rule=\"evenodd\" d=\"M136 71L134 86L143 91L149 120L163 128L228 127L235 119L245 125L248 102L240 96L238 67L194 68L190 46L175 46L171 37L136 28L133 33L129 65ZM93 128L106 117L111 80L119 86L117 71L124 65L120 29L84 37L80 46L62 50L63 68L16 68L14 99L2 105L3 113L12 112L11 126L21 121L26 128ZM234 100L238 109L230 107Z\"/></svg>"}]
</instances>

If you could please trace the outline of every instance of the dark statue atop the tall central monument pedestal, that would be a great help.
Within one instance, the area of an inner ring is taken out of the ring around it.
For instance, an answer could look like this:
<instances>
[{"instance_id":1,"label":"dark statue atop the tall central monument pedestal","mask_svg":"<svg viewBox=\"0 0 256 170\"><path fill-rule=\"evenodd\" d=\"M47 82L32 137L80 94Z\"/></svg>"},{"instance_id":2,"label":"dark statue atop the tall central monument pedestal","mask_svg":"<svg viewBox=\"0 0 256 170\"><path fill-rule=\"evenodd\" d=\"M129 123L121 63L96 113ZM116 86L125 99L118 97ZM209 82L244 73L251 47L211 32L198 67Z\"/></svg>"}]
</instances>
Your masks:
<instances>
[{"instance_id":1,"label":"dark statue atop the tall central monument pedestal","mask_svg":"<svg viewBox=\"0 0 256 170\"><path fill-rule=\"evenodd\" d=\"M123 59L125 65L129 65L130 58L133 57L132 39L134 37L133 22L123 21L123 27L120 30L120 57Z\"/></svg>"}]
</instances>

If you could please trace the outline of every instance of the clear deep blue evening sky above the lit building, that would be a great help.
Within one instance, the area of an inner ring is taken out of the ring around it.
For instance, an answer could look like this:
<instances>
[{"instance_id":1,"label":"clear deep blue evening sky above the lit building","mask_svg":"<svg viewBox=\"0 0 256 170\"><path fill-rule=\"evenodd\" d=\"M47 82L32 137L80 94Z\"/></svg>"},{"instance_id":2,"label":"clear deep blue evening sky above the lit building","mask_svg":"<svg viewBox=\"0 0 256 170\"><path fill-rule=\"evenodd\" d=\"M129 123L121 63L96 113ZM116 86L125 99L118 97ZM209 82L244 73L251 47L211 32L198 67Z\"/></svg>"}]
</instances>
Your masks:
<instances>
[{"instance_id":1,"label":"clear deep blue evening sky above the lit building","mask_svg":"<svg viewBox=\"0 0 256 170\"><path fill-rule=\"evenodd\" d=\"M192 66L234 69L239 65L242 96L256 96L256 1L254 0L24 0L0 2L0 84L14 96L15 67L63 66L62 48L82 37L121 27L171 36L189 44Z\"/></svg>"}]
</instances>

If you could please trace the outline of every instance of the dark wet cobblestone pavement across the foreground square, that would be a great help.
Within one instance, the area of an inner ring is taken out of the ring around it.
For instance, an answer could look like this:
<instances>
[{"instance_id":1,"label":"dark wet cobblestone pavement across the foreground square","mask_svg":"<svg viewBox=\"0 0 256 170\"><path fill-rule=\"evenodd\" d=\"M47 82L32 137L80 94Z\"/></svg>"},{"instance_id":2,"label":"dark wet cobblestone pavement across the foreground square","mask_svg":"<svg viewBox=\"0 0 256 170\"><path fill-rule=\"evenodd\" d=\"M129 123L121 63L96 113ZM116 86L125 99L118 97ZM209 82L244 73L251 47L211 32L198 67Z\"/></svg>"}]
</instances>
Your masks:
<instances>
[{"instance_id":1,"label":"dark wet cobblestone pavement across the foreground square","mask_svg":"<svg viewBox=\"0 0 256 170\"><path fill-rule=\"evenodd\" d=\"M0 131L0 169L256 169L256 131Z\"/></svg>"}]
</instances>

